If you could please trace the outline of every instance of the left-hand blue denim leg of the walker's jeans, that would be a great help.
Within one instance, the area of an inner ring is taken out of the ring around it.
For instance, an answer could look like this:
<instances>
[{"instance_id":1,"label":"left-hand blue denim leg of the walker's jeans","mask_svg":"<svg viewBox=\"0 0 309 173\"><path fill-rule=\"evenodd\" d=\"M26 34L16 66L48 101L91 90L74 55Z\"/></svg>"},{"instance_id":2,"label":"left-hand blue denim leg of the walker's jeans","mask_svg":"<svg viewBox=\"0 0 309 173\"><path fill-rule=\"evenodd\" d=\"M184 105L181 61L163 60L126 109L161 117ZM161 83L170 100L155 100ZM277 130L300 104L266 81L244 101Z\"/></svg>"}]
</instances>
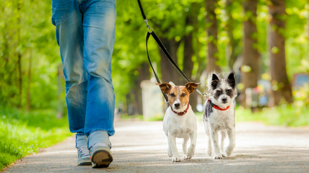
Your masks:
<instances>
[{"instance_id":1,"label":"left-hand blue denim leg of the walker's jeans","mask_svg":"<svg viewBox=\"0 0 309 173\"><path fill-rule=\"evenodd\" d=\"M83 65L84 31L77 0L52 0L52 23L65 78L69 128L84 135L88 79Z\"/></svg>"}]
</instances>

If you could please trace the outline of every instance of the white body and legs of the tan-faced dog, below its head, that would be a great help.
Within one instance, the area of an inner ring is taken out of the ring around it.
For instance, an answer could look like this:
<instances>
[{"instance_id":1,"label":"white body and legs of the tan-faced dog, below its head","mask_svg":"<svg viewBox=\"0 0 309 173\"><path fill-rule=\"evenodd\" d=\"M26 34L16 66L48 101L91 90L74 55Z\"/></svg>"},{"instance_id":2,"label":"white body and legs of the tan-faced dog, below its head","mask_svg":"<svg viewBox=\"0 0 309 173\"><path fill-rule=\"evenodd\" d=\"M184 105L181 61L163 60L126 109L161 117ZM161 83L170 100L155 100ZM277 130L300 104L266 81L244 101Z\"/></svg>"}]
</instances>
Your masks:
<instances>
[{"instance_id":1,"label":"white body and legs of the tan-faced dog, below its head","mask_svg":"<svg viewBox=\"0 0 309 173\"><path fill-rule=\"evenodd\" d=\"M187 107L183 107L177 112L183 112ZM182 151L183 159L191 159L195 152L197 125L195 114L189 105L186 114L179 116L167 108L163 119L163 131L168 139L167 155L172 158L172 162L180 162L180 156L176 147L176 138L183 138ZM187 151L187 142L191 140L190 147Z\"/></svg>"}]
</instances>

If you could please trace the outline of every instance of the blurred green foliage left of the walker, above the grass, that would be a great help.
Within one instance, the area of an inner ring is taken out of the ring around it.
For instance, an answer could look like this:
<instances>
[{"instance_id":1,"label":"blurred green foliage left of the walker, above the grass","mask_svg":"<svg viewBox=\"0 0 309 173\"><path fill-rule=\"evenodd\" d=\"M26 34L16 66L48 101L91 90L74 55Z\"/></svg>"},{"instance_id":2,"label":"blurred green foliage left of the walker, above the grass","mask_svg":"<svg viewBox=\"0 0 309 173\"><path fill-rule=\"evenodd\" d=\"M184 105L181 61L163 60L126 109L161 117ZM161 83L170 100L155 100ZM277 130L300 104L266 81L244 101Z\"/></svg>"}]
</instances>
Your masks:
<instances>
[{"instance_id":1,"label":"blurred green foliage left of the walker, above the grass","mask_svg":"<svg viewBox=\"0 0 309 173\"><path fill-rule=\"evenodd\" d=\"M51 24L50 1L1 0L0 16L0 104L24 107L29 85L31 107L56 107L57 66L61 60Z\"/></svg>"}]
</instances>

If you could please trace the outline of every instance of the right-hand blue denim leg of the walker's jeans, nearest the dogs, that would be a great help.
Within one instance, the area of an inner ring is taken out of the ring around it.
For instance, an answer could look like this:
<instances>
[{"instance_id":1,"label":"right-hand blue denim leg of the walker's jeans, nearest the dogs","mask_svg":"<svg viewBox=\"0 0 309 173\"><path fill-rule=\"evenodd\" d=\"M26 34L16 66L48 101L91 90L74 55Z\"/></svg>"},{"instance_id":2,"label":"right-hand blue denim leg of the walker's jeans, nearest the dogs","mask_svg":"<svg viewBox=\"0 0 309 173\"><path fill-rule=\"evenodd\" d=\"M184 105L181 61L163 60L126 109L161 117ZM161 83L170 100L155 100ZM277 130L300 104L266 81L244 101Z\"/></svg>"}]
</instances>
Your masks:
<instances>
[{"instance_id":1,"label":"right-hand blue denim leg of the walker's jeans, nearest the dogs","mask_svg":"<svg viewBox=\"0 0 309 173\"><path fill-rule=\"evenodd\" d=\"M115 93L112 83L112 53L115 43L116 0L88 0L83 13L84 66L88 72L85 134L88 147L105 142L114 130ZM91 140L91 133L102 138ZM96 133L97 134L97 133Z\"/></svg>"}]
</instances>

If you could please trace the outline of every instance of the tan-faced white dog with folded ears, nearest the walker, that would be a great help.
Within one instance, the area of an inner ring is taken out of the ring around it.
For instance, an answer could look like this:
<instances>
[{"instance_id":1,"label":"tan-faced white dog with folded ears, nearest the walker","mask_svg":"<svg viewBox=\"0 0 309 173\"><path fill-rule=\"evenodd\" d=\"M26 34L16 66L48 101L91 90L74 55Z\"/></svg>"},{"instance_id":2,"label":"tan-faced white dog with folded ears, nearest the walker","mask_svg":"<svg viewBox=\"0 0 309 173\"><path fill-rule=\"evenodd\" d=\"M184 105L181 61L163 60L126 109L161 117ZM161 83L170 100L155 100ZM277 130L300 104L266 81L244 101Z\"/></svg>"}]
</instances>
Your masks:
<instances>
[{"instance_id":1,"label":"tan-faced white dog with folded ears, nearest the walker","mask_svg":"<svg viewBox=\"0 0 309 173\"><path fill-rule=\"evenodd\" d=\"M187 83L185 86L175 86L172 82L158 84L168 96L170 106L165 112L163 119L163 131L168 139L167 155L172 162L180 162L180 156L176 147L176 138L183 138L183 159L191 159L196 146L196 118L189 105L189 95L194 92L197 85L201 83ZM187 151L187 142L191 139Z\"/></svg>"}]
</instances>

